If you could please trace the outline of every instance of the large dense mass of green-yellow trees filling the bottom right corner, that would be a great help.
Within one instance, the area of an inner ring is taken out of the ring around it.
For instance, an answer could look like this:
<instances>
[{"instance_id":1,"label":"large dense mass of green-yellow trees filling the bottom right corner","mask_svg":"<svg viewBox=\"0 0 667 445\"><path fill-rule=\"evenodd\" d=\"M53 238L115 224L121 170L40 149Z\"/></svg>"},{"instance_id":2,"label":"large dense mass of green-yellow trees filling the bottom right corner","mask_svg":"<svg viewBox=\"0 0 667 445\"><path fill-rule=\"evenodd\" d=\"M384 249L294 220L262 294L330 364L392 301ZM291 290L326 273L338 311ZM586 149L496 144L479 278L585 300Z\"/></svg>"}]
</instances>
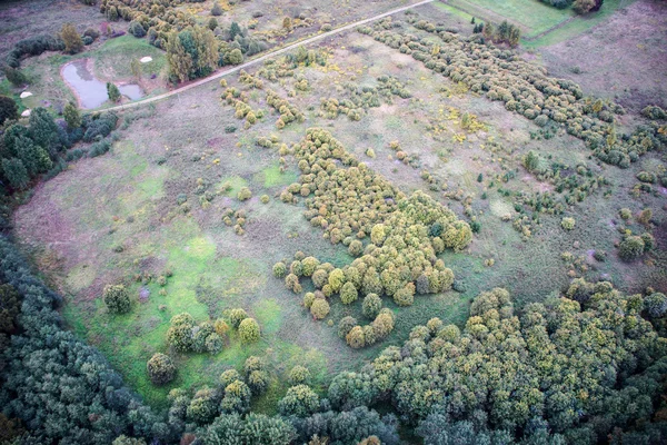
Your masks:
<instances>
[{"instance_id":1,"label":"large dense mass of green-yellow trees filling the bottom right corner","mask_svg":"<svg viewBox=\"0 0 667 445\"><path fill-rule=\"evenodd\" d=\"M448 443L465 423L502 443L595 444L614 428L624 443L659 443L667 429L651 413L667 343L641 313L647 305L664 314L665 299L626 296L609 283L578 295L529 304L518 316L506 290L482 293L462 330L437 318L415 327L401 348L338 375L329 400L345 409L391 403L426 443Z\"/></svg>"}]
</instances>

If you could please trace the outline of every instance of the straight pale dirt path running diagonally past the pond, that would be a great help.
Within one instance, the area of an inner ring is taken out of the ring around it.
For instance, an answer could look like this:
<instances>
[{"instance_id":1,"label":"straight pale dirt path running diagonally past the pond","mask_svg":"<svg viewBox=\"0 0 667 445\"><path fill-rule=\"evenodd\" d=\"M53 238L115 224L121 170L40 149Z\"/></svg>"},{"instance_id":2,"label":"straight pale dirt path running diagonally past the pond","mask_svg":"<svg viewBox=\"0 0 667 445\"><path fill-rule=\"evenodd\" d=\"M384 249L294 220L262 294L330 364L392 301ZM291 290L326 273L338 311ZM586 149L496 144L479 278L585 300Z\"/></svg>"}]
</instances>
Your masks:
<instances>
[{"instance_id":1,"label":"straight pale dirt path running diagonally past the pond","mask_svg":"<svg viewBox=\"0 0 667 445\"><path fill-rule=\"evenodd\" d=\"M336 36L337 33L340 33L340 32L344 32L344 31L348 31L350 29L355 29L355 28L357 28L357 27L359 27L361 24L366 24L366 23L369 23L371 21L384 19L385 17L392 16L392 14L398 13L398 12L407 11L408 9L412 9L412 8L419 7L421 4L427 4L427 3L430 3L432 1L435 1L435 0L424 0L424 1L420 1L418 3L408 4L407 7L401 7L401 8L392 9L391 11L387 11L387 12L384 12L381 14L368 18L368 19L359 20L359 21L356 21L356 22L342 26L340 28L337 28L335 30L331 30L331 31L328 31L328 32L323 32L323 33L321 33L319 36L310 37L310 38L303 39L301 41L288 44L287 47L277 49L275 51L267 52L266 55L260 56L260 57L258 57L256 59L252 59L250 61L247 61L246 63L241 63L241 65L238 65L238 66L236 66L233 68L229 68L229 69L226 69L226 70L218 71L218 72L216 72L216 73L213 73L213 75L211 75L211 76L209 76L207 78L197 80L197 81L195 81L192 83L188 83L185 87L178 88L178 89L176 89L173 91L165 92L162 95L153 96L151 98L139 100L139 101L136 101L136 102L119 105L117 107L111 107L111 108L106 108L106 109L102 109L100 111L118 111L118 110L125 110L125 109L128 109L128 108L138 107L138 106L146 105L146 103L157 102L158 100L167 99L168 97L178 95L180 92L188 91L188 90L190 90L192 88L197 88L197 87L199 87L201 85L205 85L205 83L208 83L208 82L210 82L212 80L216 80L216 79L219 79L221 77L225 77L225 76L231 75L233 72L240 71L242 69L246 69L248 67L251 67L253 65L262 62L262 61L265 61L265 60L267 60L267 59L269 59L271 57L276 57L276 56L281 55L283 52L291 51L291 50L298 48L301 44L309 44L309 43L312 43L312 42L315 42L317 40L321 40L321 39L326 39L327 37Z\"/></svg>"}]
</instances>

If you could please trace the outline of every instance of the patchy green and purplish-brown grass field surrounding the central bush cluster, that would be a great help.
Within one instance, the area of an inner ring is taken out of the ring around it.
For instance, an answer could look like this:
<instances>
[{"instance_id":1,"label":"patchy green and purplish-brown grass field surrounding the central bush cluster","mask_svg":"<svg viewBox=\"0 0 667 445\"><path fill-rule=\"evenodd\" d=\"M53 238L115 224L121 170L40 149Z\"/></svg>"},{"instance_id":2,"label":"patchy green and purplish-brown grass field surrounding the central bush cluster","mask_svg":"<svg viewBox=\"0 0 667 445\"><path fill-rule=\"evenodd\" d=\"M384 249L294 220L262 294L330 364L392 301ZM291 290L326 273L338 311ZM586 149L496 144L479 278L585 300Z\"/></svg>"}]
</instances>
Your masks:
<instances>
[{"instance_id":1,"label":"patchy green and purplish-brown grass field surrounding the central bush cluster","mask_svg":"<svg viewBox=\"0 0 667 445\"><path fill-rule=\"evenodd\" d=\"M515 7L520 3L512 2ZM469 26L460 14L449 14L449 7L440 8L429 6L418 12L430 18L436 11L447 26ZM504 8L505 13L511 12ZM525 16L528 22L530 14ZM555 17L532 20L531 26L546 27ZM424 34L405 26L416 36ZM97 60L96 69L106 72L119 65L126 50L142 53L140 44L131 38L107 42L97 49L96 55L106 61ZM192 89L151 107L142 118L128 118L127 129L109 154L71 165L41 185L16 212L21 245L66 295L63 316L69 326L99 347L152 405L167 406L172 387L213 385L222 370L240 369L246 357L260 355L267 357L272 380L253 408L272 413L293 365L309 367L321 392L336 373L360 368L381 348L408 338L417 324L440 317L460 326L470 300L496 286L508 288L519 307L546 299L578 276L609 279L627 291L641 291L648 285L667 289L664 236L656 236L655 254L634 264L620 261L615 246L624 225L637 233L649 229L635 218L619 221L619 209L628 208L634 215L654 209L657 234L667 219L667 191L630 194L638 171L664 168L659 156L646 155L627 170L603 165L564 129L548 138L536 137L539 128L532 121L508 112L500 102L490 102L410 56L356 32L329 39L321 49L328 55L326 67L301 66L293 77L263 80L265 89L276 91L305 115L303 122L278 130L278 116L267 103L266 92L236 77L228 79L229 85L246 92L248 105L265 115L248 128L220 99L223 89L217 82ZM115 68L119 76L123 69ZM385 75L395 77L411 97L382 97L378 107L361 109L358 121L345 115L319 116L322 98L350 99L350 91L377 88L377 78ZM308 88L297 90L296 78L306 79ZM481 127L464 129L464 112L474 113ZM228 130L231 126L235 131ZM310 127L329 130L349 152L404 192L425 190L459 218L480 222L467 249L440 255L460 281L459 291L417 296L408 308L384 298L397 315L396 329L361 350L349 348L336 334L344 316L361 319L360 301L346 306L332 298L329 316L315 322L301 306L302 295L287 290L271 275L276 261L291 260L297 251L337 267L352 259L345 246L331 245L321 229L303 218L302 202L295 206L279 199L285 187L299 178L293 159L281 160L277 150L256 144L259 137L275 136L290 146ZM398 160L389 148L391 141L414 156L416 167ZM369 148L375 157L367 155ZM608 188L567 208L566 215L576 219L573 230L561 228L560 215L536 215L530 237L505 220L505 215L516 216L515 201L506 190L531 194L552 188L522 167L530 150L545 164L565 165L568 174L581 166L610 181ZM282 172L281 161L286 165ZM422 179L425 170L438 179L437 186ZM241 187L251 189L251 199L237 199ZM607 190L611 192L605 195ZM212 194L212 200L202 205L205 191ZM268 204L259 199L265 194L270 197ZM222 222L227 209L247 212L245 235ZM606 259L594 258L599 250L607 253ZM571 260L563 259L566 253ZM155 280L141 284L133 278L136 274L157 277L166 269L173 276L163 288ZM125 283L137 299L128 315L110 316L101 303L103 287L116 283ZM166 295L160 295L161 289ZM146 362L156 352L169 352L165 334L173 315L189 312L200 322L236 307L259 322L259 343L245 346L232 334L217 356L170 353L178 364L178 378L166 387L149 383Z\"/></svg>"}]
</instances>

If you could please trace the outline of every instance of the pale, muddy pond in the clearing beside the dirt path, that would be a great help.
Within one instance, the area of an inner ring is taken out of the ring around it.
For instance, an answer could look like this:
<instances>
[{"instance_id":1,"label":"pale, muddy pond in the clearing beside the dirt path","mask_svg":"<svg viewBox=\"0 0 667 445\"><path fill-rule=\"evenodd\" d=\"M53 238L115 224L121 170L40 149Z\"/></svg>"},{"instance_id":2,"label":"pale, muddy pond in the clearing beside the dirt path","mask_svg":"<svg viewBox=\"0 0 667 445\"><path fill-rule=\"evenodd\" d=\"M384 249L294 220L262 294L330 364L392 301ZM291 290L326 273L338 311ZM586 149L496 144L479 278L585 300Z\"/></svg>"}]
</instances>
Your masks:
<instances>
[{"instance_id":1,"label":"pale, muddy pond in the clearing beside the dirt path","mask_svg":"<svg viewBox=\"0 0 667 445\"><path fill-rule=\"evenodd\" d=\"M66 83L74 91L79 98L81 108L98 108L107 100L107 83L98 80L87 67L87 59L76 60L62 67L61 75ZM143 97L141 87L135 83L117 86L120 93L130 100L137 100Z\"/></svg>"}]
</instances>

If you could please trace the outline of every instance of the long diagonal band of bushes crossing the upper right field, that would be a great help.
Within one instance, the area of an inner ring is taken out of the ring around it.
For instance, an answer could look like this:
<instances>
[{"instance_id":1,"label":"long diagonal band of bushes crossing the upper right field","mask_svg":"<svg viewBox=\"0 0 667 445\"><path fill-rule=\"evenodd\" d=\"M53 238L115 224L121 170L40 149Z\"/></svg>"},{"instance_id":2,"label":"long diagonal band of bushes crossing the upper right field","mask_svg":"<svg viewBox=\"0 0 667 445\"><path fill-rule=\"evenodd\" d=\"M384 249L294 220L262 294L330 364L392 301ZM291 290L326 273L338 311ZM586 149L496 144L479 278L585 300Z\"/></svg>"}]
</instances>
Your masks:
<instances>
[{"instance_id":1,"label":"long diagonal band of bushes crossing the upper right field","mask_svg":"<svg viewBox=\"0 0 667 445\"><path fill-rule=\"evenodd\" d=\"M395 30L390 19L359 29L391 48L411 55L436 72L467 85L491 100L501 100L514 112L536 125L555 122L583 139L605 162L628 167L648 150L667 145L667 131L653 121L630 135L616 137L614 115L620 106L600 99L584 98L581 89L569 80L554 79L525 61L517 52L494 47L479 34L464 38L444 27L409 19L414 24L439 37L438 43Z\"/></svg>"}]
</instances>

